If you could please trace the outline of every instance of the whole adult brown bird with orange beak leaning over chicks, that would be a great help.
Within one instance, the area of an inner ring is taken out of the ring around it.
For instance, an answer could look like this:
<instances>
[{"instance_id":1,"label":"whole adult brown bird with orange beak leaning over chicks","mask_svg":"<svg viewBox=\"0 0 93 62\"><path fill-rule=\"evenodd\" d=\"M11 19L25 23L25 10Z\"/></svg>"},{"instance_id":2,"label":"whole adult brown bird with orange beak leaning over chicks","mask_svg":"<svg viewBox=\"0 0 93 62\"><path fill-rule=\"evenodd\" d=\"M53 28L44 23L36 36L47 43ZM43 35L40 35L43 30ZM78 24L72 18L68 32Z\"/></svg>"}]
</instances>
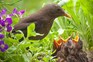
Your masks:
<instances>
[{"instance_id":1,"label":"whole adult brown bird with orange beak leaning over chicks","mask_svg":"<svg viewBox=\"0 0 93 62\"><path fill-rule=\"evenodd\" d=\"M14 26L14 31L21 30L24 33L24 36L27 36L27 27L31 23L35 23L35 31L40 34L44 34L43 36L31 36L29 39L31 40L40 40L46 37L49 33L53 21L55 18L59 16L66 16L71 17L70 15L66 14L64 10L57 4L47 4L39 11L34 14L31 14L27 17L22 18L19 23Z\"/></svg>"}]
</instances>

